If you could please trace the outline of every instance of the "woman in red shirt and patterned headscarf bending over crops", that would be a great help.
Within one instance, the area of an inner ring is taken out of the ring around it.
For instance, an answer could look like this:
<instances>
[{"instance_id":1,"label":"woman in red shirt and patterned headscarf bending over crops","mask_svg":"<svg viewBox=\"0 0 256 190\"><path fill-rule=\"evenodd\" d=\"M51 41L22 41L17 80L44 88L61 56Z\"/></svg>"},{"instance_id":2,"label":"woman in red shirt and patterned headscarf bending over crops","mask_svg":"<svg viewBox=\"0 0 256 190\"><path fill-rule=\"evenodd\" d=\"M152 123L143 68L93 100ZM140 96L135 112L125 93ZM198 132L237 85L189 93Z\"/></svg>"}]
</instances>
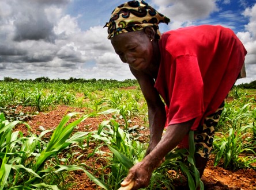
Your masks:
<instances>
[{"instance_id":1,"label":"woman in red shirt and patterned headscarf bending over crops","mask_svg":"<svg viewBox=\"0 0 256 190\"><path fill-rule=\"evenodd\" d=\"M115 52L129 64L148 104L149 147L122 183L134 181L133 189L146 187L177 145L188 148L190 130L195 131L195 162L202 176L223 101L247 53L234 32L222 26L190 26L160 35L161 22L170 20L144 1L130 1L116 7L106 24Z\"/></svg>"}]
</instances>

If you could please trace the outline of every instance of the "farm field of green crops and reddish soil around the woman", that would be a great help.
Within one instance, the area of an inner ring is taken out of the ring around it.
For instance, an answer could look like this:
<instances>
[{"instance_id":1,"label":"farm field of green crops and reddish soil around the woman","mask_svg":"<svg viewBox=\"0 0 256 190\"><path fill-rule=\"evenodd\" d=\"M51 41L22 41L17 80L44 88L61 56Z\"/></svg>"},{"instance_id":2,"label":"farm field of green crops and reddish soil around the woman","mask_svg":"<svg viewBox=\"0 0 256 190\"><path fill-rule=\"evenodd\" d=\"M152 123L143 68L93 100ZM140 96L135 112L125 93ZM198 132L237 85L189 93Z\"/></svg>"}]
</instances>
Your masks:
<instances>
[{"instance_id":1,"label":"farm field of green crops and reddish soil around the woman","mask_svg":"<svg viewBox=\"0 0 256 190\"><path fill-rule=\"evenodd\" d=\"M5 117L0 117L0 139L11 145L1 145L0 189L118 189L129 164L144 156L149 138L147 107L133 80L2 82L0 86L0 113ZM255 94L240 88L230 92L216 129L215 151L202 177L205 189L256 188ZM63 123L67 114L71 115ZM25 123L14 123L17 120ZM3 126L10 123L12 131L5 132ZM54 130L64 126L70 127L70 133L59 133L61 144L49 148L58 134ZM46 159L37 164L44 154ZM173 188L168 184L184 166L175 159L164 164L146 189Z\"/></svg>"}]
</instances>

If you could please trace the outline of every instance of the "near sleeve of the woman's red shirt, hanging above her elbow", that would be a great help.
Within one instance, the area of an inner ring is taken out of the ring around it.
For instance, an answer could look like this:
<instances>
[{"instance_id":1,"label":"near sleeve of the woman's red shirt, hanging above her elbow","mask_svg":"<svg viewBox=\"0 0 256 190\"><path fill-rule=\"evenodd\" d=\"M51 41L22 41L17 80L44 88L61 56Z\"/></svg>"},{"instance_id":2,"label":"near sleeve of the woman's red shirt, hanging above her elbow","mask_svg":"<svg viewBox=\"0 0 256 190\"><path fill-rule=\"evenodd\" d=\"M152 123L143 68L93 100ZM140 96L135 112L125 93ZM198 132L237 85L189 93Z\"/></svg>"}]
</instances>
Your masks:
<instances>
[{"instance_id":1,"label":"near sleeve of the woman's red shirt, hanging above her elbow","mask_svg":"<svg viewBox=\"0 0 256 190\"><path fill-rule=\"evenodd\" d=\"M201 116L204 111L204 90L197 57L178 56L170 69L167 125Z\"/></svg>"}]
</instances>

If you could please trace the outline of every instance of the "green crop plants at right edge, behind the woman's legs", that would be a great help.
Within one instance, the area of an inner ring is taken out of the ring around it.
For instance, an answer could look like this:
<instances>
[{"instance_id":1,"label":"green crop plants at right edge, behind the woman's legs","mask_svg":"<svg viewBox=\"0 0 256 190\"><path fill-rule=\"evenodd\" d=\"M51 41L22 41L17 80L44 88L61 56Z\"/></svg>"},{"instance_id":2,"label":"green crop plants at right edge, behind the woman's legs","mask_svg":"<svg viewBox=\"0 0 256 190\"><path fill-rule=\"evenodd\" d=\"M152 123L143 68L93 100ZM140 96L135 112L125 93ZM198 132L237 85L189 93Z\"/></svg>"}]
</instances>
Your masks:
<instances>
[{"instance_id":1,"label":"green crop plants at right edge, behind the woman's legs","mask_svg":"<svg viewBox=\"0 0 256 190\"><path fill-rule=\"evenodd\" d=\"M229 93L214 137L214 165L225 169L252 168L255 159L256 101L248 91L233 88Z\"/></svg>"}]
</instances>

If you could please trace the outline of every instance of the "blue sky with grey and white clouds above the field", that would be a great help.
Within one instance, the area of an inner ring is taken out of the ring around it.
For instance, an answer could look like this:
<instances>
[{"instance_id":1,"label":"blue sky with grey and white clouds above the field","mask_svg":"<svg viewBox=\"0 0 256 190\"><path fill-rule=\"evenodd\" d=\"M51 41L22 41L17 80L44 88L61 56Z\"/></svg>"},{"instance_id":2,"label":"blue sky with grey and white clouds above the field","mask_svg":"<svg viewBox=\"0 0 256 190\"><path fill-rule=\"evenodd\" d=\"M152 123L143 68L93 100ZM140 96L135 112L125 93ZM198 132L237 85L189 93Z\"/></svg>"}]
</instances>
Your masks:
<instances>
[{"instance_id":1,"label":"blue sky with grey and white clouds above the field","mask_svg":"<svg viewBox=\"0 0 256 190\"><path fill-rule=\"evenodd\" d=\"M1 0L0 80L134 79L107 39L112 10L125 1ZM256 0L145 0L171 19L160 32L223 25L247 49L245 79L256 80Z\"/></svg>"}]
</instances>

